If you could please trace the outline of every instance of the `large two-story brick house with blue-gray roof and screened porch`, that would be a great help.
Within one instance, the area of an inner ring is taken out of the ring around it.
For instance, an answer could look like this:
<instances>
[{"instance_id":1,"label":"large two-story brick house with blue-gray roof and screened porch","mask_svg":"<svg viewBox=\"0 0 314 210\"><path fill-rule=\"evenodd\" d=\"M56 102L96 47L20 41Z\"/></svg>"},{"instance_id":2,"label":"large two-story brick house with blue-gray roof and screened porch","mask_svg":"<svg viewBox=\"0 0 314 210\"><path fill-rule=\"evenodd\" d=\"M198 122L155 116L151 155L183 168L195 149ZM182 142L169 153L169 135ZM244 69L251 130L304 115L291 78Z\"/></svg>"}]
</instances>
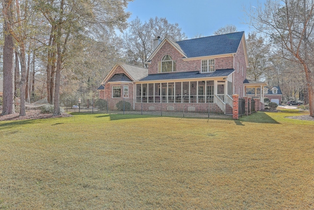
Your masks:
<instances>
[{"instance_id":1,"label":"large two-story brick house with blue-gray roof and screened porch","mask_svg":"<svg viewBox=\"0 0 314 210\"><path fill-rule=\"evenodd\" d=\"M100 98L109 106L126 100L133 110L210 107L232 114L233 95L245 96L249 64L243 31L177 42L158 38L154 48L148 68L116 64L98 88Z\"/></svg>"}]
</instances>

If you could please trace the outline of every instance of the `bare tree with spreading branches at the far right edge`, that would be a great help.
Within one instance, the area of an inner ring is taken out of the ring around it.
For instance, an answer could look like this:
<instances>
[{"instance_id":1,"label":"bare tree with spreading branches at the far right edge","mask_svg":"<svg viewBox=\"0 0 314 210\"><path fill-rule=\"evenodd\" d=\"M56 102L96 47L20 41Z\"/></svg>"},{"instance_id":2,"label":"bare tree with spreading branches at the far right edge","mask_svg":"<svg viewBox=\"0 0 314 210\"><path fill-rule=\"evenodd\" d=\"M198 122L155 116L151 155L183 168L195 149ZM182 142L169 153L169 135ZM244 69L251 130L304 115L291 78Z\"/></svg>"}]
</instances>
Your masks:
<instances>
[{"instance_id":1,"label":"bare tree with spreading branches at the far right edge","mask_svg":"<svg viewBox=\"0 0 314 210\"><path fill-rule=\"evenodd\" d=\"M314 1L267 0L248 16L250 25L276 44L283 58L303 66L314 117Z\"/></svg>"}]
</instances>

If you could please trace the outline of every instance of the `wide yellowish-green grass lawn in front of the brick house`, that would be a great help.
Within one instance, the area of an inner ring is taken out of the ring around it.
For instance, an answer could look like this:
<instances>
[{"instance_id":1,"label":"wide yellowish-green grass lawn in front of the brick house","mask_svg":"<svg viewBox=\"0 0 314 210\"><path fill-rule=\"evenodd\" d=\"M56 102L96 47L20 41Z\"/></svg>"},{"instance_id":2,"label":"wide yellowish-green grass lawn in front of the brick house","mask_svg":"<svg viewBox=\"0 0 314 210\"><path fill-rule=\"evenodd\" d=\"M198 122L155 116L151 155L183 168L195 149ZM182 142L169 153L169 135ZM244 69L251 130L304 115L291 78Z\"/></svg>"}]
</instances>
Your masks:
<instances>
[{"instance_id":1,"label":"wide yellowish-green grass lawn in front of the brick house","mask_svg":"<svg viewBox=\"0 0 314 210\"><path fill-rule=\"evenodd\" d=\"M1 210L314 210L314 121L0 121Z\"/></svg>"}]
</instances>

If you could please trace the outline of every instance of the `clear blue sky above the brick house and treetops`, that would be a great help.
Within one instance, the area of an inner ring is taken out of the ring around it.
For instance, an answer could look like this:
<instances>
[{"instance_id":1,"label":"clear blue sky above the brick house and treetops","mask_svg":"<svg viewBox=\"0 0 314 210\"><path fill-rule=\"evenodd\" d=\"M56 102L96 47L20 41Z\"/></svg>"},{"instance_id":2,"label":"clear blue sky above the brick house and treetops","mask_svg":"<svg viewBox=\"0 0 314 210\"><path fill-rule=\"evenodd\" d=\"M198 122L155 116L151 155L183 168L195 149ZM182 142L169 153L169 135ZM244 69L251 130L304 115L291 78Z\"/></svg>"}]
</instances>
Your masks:
<instances>
[{"instance_id":1,"label":"clear blue sky above the brick house and treetops","mask_svg":"<svg viewBox=\"0 0 314 210\"><path fill-rule=\"evenodd\" d=\"M259 0L263 3L265 0ZM232 24L238 31L250 31L245 22L245 8L258 6L257 0L134 0L129 2L129 22L139 17L142 22L150 18L165 17L171 24L178 23L191 38L196 34L210 36L215 30Z\"/></svg>"}]
</instances>

